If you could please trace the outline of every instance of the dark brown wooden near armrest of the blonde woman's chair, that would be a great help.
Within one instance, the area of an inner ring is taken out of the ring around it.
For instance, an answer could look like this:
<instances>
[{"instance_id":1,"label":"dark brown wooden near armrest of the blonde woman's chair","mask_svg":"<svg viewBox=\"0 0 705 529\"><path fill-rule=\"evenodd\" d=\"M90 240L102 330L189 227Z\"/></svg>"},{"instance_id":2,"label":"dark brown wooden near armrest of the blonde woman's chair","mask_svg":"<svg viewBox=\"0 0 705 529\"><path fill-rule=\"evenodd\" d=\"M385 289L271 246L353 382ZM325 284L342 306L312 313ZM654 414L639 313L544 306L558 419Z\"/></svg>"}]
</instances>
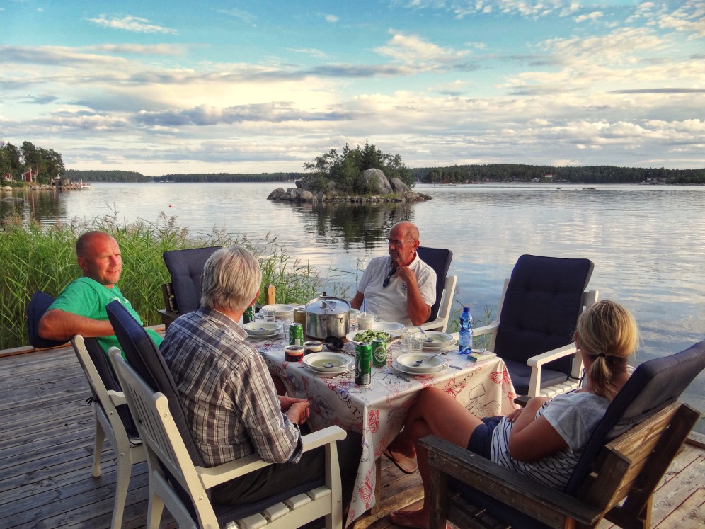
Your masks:
<instances>
[{"instance_id":1,"label":"dark brown wooden near armrest of the blonde woman's chair","mask_svg":"<svg viewBox=\"0 0 705 529\"><path fill-rule=\"evenodd\" d=\"M502 467L481 455L449 443L436 436L426 436L420 445L428 449L432 471L443 472L469 484L532 518L553 527L563 527L564 518L578 524L591 525L602 516L600 509L573 496ZM432 491L433 494L433 491ZM434 504L434 501L431 501Z\"/></svg>"}]
</instances>

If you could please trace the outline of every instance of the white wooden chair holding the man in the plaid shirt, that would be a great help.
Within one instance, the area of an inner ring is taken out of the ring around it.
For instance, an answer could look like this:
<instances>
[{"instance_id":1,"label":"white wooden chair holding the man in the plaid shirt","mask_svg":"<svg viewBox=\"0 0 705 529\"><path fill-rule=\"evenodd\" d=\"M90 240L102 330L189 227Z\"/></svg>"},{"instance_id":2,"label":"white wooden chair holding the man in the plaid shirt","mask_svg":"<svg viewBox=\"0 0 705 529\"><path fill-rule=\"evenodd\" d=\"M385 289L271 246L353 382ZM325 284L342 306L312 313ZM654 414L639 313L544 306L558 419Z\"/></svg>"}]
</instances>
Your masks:
<instances>
[{"instance_id":1,"label":"white wooden chair holding the man in the plaid shirt","mask_svg":"<svg viewBox=\"0 0 705 529\"><path fill-rule=\"evenodd\" d=\"M164 358L142 326L119 302L108 305L128 365L117 348L111 350L127 404L147 448L149 507L147 527L159 527L164 506L180 527L229 529L294 528L326 518L326 528L343 523L342 490L336 440L346 433L337 426L302 438L304 451L325 447L326 472L310 482L256 504L225 506L210 499L212 487L263 468L256 454L218 467L206 467L195 447L185 410Z\"/></svg>"}]
</instances>

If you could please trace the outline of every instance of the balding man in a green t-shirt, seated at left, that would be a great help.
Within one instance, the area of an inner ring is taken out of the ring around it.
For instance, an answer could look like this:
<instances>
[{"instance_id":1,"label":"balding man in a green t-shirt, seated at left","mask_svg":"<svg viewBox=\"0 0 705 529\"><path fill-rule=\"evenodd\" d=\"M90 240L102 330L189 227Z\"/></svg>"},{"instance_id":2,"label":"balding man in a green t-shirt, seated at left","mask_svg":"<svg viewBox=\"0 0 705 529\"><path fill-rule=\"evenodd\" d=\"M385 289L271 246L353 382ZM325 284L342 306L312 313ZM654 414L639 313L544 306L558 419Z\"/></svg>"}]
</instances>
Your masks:
<instances>
[{"instance_id":1,"label":"balding man in a green t-shirt, seated at left","mask_svg":"<svg viewBox=\"0 0 705 529\"><path fill-rule=\"evenodd\" d=\"M137 312L125 299L117 281L122 273L122 257L117 241L104 232L86 232L76 241L76 258L84 277L71 281L39 322L39 335L50 340L70 340L75 334L98 338L103 351L120 347L105 306L117 300L142 324ZM148 329L157 346L161 336Z\"/></svg>"}]
</instances>

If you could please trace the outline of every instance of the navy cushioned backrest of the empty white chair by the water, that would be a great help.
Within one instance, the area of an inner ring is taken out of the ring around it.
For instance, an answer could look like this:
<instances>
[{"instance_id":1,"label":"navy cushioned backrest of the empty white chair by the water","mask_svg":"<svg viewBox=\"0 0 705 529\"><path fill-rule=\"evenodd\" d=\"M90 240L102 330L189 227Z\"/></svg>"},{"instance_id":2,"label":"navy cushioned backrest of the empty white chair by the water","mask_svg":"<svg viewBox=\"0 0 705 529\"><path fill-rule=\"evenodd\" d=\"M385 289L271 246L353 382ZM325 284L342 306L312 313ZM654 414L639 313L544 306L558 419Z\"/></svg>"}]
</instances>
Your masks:
<instances>
[{"instance_id":1,"label":"navy cushioned backrest of the empty white chair by the water","mask_svg":"<svg viewBox=\"0 0 705 529\"><path fill-rule=\"evenodd\" d=\"M525 363L573 342L592 268L589 259L520 256L502 302L494 352ZM572 365L568 356L546 367L570 375Z\"/></svg>"}]
</instances>

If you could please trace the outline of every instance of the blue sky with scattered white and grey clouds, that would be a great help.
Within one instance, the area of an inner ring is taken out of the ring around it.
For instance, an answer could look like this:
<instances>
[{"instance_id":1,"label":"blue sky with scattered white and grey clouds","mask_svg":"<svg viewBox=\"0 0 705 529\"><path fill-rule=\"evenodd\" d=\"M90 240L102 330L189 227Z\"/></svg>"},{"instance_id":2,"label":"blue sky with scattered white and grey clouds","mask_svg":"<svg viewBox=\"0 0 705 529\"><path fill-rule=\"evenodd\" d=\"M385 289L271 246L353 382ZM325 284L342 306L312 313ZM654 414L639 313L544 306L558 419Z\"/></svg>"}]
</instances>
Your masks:
<instances>
[{"instance_id":1,"label":"blue sky with scattered white and grey clouds","mask_svg":"<svg viewBox=\"0 0 705 529\"><path fill-rule=\"evenodd\" d=\"M0 141L67 169L705 167L705 1L0 0Z\"/></svg>"}]
</instances>

